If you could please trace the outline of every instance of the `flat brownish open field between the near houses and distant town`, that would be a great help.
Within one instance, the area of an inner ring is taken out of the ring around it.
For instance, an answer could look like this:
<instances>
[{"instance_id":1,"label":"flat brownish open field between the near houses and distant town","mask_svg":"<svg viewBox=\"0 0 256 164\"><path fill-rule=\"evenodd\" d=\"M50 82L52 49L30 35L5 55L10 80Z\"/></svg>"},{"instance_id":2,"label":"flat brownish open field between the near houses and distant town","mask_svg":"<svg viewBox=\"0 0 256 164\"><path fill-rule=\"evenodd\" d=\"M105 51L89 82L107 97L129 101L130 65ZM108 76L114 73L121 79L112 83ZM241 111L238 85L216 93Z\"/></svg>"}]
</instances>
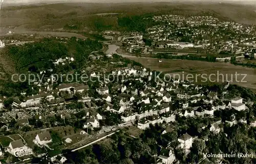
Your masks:
<instances>
[{"instance_id":1,"label":"flat brownish open field between the near houses and distant town","mask_svg":"<svg viewBox=\"0 0 256 164\"><path fill-rule=\"evenodd\" d=\"M163 72L163 74L170 74L171 77L175 76L176 78L178 78L180 76L181 79L184 77L184 80L187 79L195 83L204 82L202 74L206 74L203 77L206 77L208 79L206 82L209 83L214 81L225 82L232 80L230 82L231 84L238 84L243 87L256 89L256 69L254 68L236 66L230 63L221 62L205 62L175 59L162 59L162 62L159 62L159 59L153 58L140 58L129 55L122 56L139 62L143 64L145 67L150 68L152 70ZM223 76L221 74L223 74ZM244 75L242 74L246 74L245 78Z\"/></svg>"}]
</instances>

